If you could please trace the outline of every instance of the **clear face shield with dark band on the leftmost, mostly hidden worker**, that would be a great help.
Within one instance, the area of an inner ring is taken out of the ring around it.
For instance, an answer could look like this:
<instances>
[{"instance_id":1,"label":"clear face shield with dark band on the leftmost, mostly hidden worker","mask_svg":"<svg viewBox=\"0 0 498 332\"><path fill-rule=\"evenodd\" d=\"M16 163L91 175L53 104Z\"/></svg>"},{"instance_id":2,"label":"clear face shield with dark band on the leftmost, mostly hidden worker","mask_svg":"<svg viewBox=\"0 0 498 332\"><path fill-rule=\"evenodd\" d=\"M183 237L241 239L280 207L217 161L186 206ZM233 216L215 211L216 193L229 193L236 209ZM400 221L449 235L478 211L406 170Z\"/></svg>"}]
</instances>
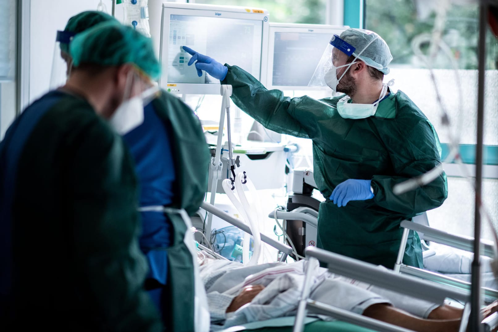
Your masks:
<instances>
[{"instance_id":1,"label":"clear face shield with dark band on the leftmost, mostly hidden worker","mask_svg":"<svg viewBox=\"0 0 498 332\"><path fill-rule=\"evenodd\" d=\"M57 89L64 84L71 73L72 58L69 55L69 42L75 33L57 31L54 55L52 60L52 73L50 75L50 90Z\"/></svg>"}]
</instances>

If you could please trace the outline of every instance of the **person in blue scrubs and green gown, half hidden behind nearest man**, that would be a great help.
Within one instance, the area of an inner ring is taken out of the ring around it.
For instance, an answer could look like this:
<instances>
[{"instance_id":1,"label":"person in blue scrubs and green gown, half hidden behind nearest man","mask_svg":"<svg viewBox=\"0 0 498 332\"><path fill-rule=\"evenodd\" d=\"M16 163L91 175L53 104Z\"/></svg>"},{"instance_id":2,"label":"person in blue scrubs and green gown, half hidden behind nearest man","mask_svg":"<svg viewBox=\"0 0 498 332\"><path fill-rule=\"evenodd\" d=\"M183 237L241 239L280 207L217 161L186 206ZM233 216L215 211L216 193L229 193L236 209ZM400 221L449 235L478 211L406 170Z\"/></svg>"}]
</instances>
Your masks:
<instances>
[{"instance_id":1,"label":"person in blue scrubs and green gown, half hidden behind nearest man","mask_svg":"<svg viewBox=\"0 0 498 332\"><path fill-rule=\"evenodd\" d=\"M55 56L64 63L54 60L57 66L52 77L58 77L53 81L58 82L55 86L66 75L71 76L73 59L66 52L68 36L109 19L114 20L99 11L84 11L69 19L64 32L58 33L65 38L58 38L60 53L57 51ZM195 213L206 194L210 154L199 119L180 99L153 86L141 97L133 99L134 111L116 112L110 121L123 135L138 177L142 209L139 245L149 266L145 288L168 331L194 331L193 324L201 318L194 318L194 266L183 242L187 227L178 214L166 215L151 208ZM209 314L207 308L205 314ZM204 326L208 327L207 322Z\"/></svg>"}]
</instances>

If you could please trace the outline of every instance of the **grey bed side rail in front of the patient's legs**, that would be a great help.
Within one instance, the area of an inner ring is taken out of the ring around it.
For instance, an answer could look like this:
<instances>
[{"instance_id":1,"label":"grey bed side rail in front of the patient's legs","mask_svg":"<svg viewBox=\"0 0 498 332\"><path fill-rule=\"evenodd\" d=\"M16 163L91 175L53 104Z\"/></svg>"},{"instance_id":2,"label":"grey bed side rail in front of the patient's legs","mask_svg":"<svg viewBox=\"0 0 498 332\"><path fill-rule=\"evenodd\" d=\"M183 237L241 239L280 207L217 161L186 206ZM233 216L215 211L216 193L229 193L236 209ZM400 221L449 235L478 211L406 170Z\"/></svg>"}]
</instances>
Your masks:
<instances>
[{"instance_id":1,"label":"grey bed side rail in front of the patient's legs","mask_svg":"<svg viewBox=\"0 0 498 332\"><path fill-rule=\"evenodd\" d=\"M307 309L310 307L312 307L315 311L322 312L325 315L335 317L358 326L370 328L374 331L411 331L309 299L311 288L310 275L312 270L310 266L313 266L312 262L316 260L326 263L328 269L333 273L369 284L374 284L378 287L396 291L414 298L434 303L443 303L446 298L461 301L465 303L465 307L460 331L466 331L470 314L470 294L463 289L448 288L413 276L402 275L395 271L379 269L373 264L348 258L319 248L308 247L306 248L305 253L307 257L306 259L309 260L309 263L306 267L304 287L299 301L293 332L303 331L303 320L306 316ZM483 322L485 331L490 331L490 329L494 329L497 325L498 313L491 315Z\"/></svg>"}]
</instances>

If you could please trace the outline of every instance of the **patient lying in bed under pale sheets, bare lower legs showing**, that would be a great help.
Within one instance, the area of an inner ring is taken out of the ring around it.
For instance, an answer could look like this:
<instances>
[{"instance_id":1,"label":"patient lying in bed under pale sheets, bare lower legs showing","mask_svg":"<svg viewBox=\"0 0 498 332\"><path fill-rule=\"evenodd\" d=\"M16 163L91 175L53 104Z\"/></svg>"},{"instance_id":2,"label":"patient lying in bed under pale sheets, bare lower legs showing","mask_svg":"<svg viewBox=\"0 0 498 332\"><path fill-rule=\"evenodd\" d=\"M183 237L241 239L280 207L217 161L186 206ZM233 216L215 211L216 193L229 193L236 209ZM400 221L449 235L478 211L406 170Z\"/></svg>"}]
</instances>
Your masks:
<instances>
[{"instance_id":1,"label":"patient lying in bed under pale sheets, bare lower legs showing","mask_svg":"<svg viewBox=\"0 0 498 332\"><path fill-rule=\"evenodd\" d=\"M307 261L243 266L212 259L202 251L199 264L213 330L295 315ZM458 331L462 316L461 309L335 276L318 266L313 270L310 298L414 331ZM497 310L495 302L484 315Z\"/></svg>"}]
</instances>

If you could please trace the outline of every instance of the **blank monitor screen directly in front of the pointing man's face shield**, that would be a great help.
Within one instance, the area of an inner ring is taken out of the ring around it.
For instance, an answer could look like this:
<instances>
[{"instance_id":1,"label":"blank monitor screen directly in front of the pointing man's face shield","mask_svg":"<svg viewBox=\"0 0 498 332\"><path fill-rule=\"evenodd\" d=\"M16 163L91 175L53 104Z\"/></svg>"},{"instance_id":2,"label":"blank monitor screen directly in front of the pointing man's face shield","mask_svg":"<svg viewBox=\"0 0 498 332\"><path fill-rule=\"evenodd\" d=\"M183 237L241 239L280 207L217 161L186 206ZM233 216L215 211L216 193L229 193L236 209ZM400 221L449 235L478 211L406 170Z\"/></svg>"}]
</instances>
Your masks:
<instances>
[{"instance_id":1,"label":"blank monitor screen directly in front of the pointing man's face shield","mask_svg":"<svg viewBox=\"0 0 498 332\"><path fill-rule=\"evenodd\" d=\"M274 32L272 86L307 87L331 32Z\"/></svg>"}]
</instances>

